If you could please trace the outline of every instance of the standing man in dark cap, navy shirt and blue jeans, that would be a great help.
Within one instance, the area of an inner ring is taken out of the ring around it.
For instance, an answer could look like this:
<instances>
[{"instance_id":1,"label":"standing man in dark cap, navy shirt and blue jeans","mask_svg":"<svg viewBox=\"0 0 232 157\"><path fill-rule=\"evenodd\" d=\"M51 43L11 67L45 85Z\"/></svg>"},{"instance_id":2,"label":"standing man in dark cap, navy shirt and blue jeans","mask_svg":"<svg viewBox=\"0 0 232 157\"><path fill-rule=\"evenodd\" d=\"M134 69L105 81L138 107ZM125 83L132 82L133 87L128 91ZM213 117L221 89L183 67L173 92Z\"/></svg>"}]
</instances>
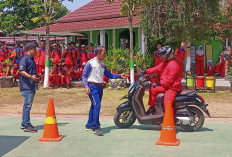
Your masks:
<instances>
[{"instance_id":1,"label":"standing man in dark cap, navy shirt and blue jeans","mask_svg":"<svg viewBox=\"0 0 232 157\"><path fill-rule=\"evenodd\" d=\"M20 92L24 97L23 115L21 129L25 132L37 132L37 129L30 123L30 110L38 89L39 78L37 77L34 56L36 55L37 43L26 44L27 55L22 57L19 62L19 83Z\"/></svg>"}]
</instances>

